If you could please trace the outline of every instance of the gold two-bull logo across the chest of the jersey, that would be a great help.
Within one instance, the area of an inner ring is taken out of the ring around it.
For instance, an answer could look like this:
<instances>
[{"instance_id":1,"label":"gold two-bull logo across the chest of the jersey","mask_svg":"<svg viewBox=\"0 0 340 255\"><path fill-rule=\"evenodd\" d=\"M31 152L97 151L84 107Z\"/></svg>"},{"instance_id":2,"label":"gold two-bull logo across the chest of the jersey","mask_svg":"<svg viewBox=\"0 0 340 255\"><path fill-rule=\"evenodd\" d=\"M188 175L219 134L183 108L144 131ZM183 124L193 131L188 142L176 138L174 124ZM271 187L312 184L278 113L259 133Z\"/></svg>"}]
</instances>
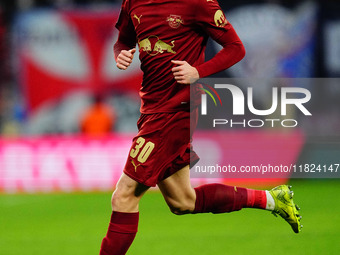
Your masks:
<instances>
[{"instance_id":1,"label":"gold two-bull logo across the chest of the jersey","mask_svg":"<svg viewBox=\"0 0 340 255\"><path fill-rule=\"evenodd\" d=\"M156 56L159 53L172 53L176 54L176 52L173 50L175 47L175 41L171 41L170 44L160 40L158 36L152 35L148 38L145 38L143 40L140 40L138 42L139 50L144 51L150 56ZM152 47L153 46L153 47Z\"/></svg>"}]
</instances>

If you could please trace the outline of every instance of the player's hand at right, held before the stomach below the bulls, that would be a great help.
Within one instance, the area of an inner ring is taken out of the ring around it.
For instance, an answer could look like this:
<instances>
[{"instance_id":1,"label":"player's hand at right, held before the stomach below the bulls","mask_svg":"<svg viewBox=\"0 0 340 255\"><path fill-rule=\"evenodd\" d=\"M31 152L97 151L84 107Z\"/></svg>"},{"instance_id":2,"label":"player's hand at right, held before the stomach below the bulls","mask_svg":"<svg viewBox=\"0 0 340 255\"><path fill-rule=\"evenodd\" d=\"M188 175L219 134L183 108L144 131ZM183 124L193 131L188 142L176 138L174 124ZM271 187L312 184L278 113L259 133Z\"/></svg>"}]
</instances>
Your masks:
<instances>
[{"instance_id":1,"label":"player's hand at right, held before the stomach below the bulls","mask_svg":"<svg viewBox=\"0 0 340 255\"><path fill-rule=\"evenodd\" d=\"M191 84L200 78L197 69L188 62L171 60L171 63L176 65L171 71L179 84Z\"/></svg>"}]
</instances>

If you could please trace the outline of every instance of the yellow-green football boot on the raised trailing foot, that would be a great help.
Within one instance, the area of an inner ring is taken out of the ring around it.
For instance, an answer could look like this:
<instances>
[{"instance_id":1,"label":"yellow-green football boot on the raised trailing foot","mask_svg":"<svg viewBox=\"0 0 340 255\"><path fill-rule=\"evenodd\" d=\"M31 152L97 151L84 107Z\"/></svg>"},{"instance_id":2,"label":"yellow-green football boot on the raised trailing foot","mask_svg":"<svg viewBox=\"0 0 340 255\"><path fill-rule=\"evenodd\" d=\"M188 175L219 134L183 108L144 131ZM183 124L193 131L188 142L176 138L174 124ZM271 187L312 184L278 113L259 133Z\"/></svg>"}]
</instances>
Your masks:
<instances>
[{"instance_id":1,"label":"yellow-green football boot on the raised trailing foot","mask_svg":"<svg viewBox=\"0 0 340 255\"><path fill-rule=\"evenodd\" d=\"M295 233L299 233L303 227L300 222L302 216L298 212L300 208L294 204L294 192L291 191L291 188L292 186L280 185L269 191L275 201L275 209L272 213L276 217L277 214L280 215L289 223Z\"/></svg>"}]
</instances>

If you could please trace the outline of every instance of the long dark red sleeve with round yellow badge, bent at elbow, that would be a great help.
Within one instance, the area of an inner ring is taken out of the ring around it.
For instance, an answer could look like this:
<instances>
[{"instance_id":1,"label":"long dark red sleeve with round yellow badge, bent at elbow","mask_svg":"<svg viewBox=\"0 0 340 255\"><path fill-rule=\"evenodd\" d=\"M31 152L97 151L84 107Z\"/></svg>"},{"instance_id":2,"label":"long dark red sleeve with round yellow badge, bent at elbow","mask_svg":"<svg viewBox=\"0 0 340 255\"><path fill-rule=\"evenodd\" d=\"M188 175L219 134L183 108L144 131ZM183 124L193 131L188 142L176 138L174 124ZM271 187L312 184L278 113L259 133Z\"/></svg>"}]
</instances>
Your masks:
<instances>
[{"instance_id":1,"label":"long dark red sleeve with round yellow badge, bent at elbow","mask_svg":"<svg viewBox=\"0 0 340 255\"><path fill-rule=\"evenodd\" d=\"M197 2L196 24L223 47L211 60L196 66L200 78L204 78L239 62L245 55L245 49L217 0Z\"/></svg>"}]
</instances>

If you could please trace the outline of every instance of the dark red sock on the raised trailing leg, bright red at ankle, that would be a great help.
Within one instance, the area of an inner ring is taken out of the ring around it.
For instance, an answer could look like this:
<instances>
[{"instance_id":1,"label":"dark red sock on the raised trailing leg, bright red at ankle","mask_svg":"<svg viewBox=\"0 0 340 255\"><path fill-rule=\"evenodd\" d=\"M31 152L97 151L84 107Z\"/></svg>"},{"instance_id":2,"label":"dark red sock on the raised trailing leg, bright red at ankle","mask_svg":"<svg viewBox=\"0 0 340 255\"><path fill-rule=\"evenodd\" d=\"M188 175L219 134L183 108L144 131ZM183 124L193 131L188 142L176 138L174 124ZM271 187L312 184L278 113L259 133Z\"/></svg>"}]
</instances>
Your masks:
<instances>
[{"instance_id":1,"label":"dark red sock on the raised trailing leg, bright red at ankle","mask_svg":"<svg viewBox=\"0 0 340 255\"><path fill-rule=\"evenodd\" d=\"M267 197L264 190L207 184L195 188L196 204L193 213L225 213L242 208L266 208Z\"/></svg>"}]
</instances>

